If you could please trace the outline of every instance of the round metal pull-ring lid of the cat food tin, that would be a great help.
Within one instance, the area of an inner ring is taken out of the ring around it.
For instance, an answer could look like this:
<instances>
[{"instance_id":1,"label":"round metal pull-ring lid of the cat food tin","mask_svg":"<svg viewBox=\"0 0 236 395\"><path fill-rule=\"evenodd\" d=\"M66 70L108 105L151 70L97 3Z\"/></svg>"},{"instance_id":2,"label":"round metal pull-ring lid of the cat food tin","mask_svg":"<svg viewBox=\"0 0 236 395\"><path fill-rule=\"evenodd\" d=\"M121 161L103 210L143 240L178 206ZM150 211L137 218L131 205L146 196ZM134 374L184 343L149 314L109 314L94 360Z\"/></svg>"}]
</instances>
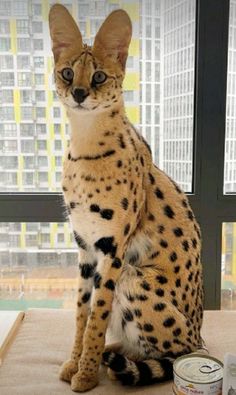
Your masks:
<instances>
[{"instance_id":1,"label":"round metal pull-ring lid of the cat food tin","mask_svg":"<svg viewBox=\"0 0 236 395\"><path fill-rule=\"evenodd\" d=\"M209 355L193 353L176 359L174 373L192 383L213 383L222 379L223 364Z\"/></svg>"}]
</instances>

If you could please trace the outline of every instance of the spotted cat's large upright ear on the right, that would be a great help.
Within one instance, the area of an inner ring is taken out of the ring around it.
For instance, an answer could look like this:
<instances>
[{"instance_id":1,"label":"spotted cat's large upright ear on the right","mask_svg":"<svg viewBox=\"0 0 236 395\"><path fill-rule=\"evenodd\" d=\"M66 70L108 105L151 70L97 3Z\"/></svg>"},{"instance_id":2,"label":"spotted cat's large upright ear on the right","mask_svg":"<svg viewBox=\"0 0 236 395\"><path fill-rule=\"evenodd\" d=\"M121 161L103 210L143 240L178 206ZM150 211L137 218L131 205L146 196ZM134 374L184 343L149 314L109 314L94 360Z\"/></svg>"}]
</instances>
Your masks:
<instances>
[{"instance_id":1,"label":"spotted cat's large upright ear on the right","mask_svg":"<svg viewBox=\"0 0 236 395\"><path fill-rule=\"evenodd\" d=\"M132 24L128 14L123 10L113 11L95 37L93 53L98 59L109 56L118 60L124 70L131 36Z\"/></svg>"}]
</instances>

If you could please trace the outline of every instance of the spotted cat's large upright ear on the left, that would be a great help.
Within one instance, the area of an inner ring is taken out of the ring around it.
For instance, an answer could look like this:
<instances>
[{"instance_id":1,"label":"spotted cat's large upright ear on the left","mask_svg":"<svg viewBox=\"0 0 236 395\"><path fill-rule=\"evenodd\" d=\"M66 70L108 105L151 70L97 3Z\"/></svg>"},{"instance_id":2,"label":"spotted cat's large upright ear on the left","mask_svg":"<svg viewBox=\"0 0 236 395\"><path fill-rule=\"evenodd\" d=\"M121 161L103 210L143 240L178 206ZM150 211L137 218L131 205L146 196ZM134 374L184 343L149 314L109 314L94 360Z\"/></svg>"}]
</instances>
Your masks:
<instances>
[{"instance_id":1,"label":"spotted cat's large upright ear on the left","mask_svg":"<svg viewBox=\"0 0 236 395\"><path fill-rule=\"evenodd\" d=\"M71 14L61 4L54 4L49 12L49 28L53 42L55 63L66 53L80 53L82 36Z\"/></svg>"}]
</instances>

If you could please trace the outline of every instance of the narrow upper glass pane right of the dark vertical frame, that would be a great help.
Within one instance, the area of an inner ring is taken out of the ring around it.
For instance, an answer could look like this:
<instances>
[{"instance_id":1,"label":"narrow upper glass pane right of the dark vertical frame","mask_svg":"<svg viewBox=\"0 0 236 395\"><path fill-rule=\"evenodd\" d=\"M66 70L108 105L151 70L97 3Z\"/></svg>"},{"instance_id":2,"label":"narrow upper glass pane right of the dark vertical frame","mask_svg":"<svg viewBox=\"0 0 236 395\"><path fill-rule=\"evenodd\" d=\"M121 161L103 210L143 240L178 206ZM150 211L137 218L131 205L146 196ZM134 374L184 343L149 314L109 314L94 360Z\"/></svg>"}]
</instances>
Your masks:
<instances>
[{"instance_id":1,"label":"narrow upper glass pane right of the dark vertical frame","mask_svg":"<svg viewBox=\"0 0 236 395\"><path fill-rule=\"evenodd\" d=\"M230 1L224 194L236 192L236 3Z\"/></svg>"}]
</instances>

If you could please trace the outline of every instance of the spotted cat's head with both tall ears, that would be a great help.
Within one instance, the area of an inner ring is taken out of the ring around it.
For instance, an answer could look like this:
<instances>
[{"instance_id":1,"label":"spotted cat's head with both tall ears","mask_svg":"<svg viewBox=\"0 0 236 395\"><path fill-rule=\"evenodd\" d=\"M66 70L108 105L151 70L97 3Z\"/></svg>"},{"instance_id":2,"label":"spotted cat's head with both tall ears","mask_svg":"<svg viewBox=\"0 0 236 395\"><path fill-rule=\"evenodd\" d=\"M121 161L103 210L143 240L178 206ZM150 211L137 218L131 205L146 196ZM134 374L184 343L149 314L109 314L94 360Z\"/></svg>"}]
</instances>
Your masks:
<instances>
[{"instance_id":1,"label":"spotted cat's head with both tall ears","mask_svg":"<svg viewBox=\"0 0 236 395\"><path fill-rule=\"evenodd\" d=\"M132 26L123 10L113 11L92 47L84 45L67 9L55 4L49 13L56 90L67 110L104 111L122 96L122 81Z\"/></svg>"}]
</instances>

